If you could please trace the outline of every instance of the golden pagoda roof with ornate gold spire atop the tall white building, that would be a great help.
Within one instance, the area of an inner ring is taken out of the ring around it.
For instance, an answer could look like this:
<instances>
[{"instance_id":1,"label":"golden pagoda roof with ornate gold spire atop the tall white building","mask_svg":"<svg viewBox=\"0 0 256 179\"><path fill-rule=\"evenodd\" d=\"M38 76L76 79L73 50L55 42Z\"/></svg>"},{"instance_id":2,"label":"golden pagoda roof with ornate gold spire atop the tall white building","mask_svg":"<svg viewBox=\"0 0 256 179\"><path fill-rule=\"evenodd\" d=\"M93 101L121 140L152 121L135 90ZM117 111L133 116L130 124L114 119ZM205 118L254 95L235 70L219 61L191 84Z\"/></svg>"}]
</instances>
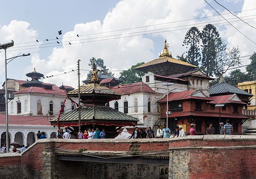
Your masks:
<instances>
[{"instance_id":1,"label":"golden pagoda roof with ornate gold spire atop the tall white building","mask_svg":"<svg viewBox=\"0 0 256 179\"><path fill-rule=\"evenodd\" d=\"M198 66L183 62L173 58L172 53L168 50L168 43L165 39L163 53L160 53L157 59L148 63L141 64L135 69L142 72L169 76L172 74L182 74L198 68Z\"/></svg>"}]
</instances>

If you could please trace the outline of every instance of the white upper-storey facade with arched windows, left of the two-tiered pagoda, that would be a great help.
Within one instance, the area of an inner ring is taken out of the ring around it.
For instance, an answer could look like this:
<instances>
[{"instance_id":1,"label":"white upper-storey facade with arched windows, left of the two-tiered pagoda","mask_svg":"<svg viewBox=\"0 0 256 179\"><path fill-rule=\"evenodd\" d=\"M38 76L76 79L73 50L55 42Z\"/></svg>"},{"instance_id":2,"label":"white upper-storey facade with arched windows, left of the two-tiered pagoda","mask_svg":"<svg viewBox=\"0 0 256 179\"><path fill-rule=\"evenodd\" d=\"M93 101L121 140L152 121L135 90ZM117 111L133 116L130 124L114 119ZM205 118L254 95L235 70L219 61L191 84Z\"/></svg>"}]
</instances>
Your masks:
<instances>
[{"instance_id":1,"label":"white upper-storey facade with arched windows, left of the two-tiered pagoda","mask_svg":"<svg viewBox=\"0 0 256 179\"><path fill-rule=\"evenodd\" d=\"M9 115L30 115L30 116L56 116L61 108L61 103L64 102L66 96L52 95L52 94L39 94L39 93L26 93L16 94L14 99L8 104ZM18 113L18 105L21 105L20 113ZM40 111L40 104L41 109ZM50 111L50 104L53 111ZM69 112L72 109L69 99L65 102L64 112Z\"/></svg>"}]
</instances>

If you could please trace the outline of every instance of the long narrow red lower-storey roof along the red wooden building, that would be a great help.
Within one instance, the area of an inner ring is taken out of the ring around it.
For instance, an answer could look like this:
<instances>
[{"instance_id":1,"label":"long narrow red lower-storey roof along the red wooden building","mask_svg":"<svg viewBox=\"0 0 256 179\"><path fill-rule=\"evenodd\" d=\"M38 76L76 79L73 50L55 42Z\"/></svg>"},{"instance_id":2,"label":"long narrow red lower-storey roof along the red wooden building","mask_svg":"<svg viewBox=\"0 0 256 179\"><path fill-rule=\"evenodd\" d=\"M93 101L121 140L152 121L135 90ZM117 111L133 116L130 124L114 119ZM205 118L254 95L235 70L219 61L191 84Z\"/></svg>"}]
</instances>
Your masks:
<instances>
[{"instance_id":1,"label":"long narrow red lower-storey roof along the red wooden building","mask_svg":"<svg viewBox=\"0 0 256 179\"><path fill-rule=\"evenodd\" d=\"M219 117L219 113L205 113L205 112L191 112L191 111L180 111L180 112L172 112L168 117L183 117L183 116L206 116L206 117ZM243 115L235 115L235 114L221 114L221 117L229 117L229 118L240 118L247 119L248 117Z\"/></svg>"}]
</instances>

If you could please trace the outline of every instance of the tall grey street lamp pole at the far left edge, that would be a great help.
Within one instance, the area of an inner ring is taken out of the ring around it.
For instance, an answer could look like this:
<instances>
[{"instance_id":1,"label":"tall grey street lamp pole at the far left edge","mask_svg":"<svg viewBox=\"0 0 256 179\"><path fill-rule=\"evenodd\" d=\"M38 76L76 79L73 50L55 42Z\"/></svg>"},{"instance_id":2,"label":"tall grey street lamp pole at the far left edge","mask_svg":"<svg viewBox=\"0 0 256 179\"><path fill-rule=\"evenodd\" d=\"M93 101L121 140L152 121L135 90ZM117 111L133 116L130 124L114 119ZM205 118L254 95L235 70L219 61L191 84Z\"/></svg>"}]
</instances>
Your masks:
<instances>
[{"instance_id":1,"label":"tall grey street lamp pole at the far left edge","mask_svg":"<svg viewBox=\"0 0 256 179\"><path fill-rule=\"evenodd\" d=\"M4 49L5 54L5 122L6 122L6 151L9 153L9 129L8 129L8 96L7 96L7 59L6 59L6 48Z\"/></svg>"}]
</instances>

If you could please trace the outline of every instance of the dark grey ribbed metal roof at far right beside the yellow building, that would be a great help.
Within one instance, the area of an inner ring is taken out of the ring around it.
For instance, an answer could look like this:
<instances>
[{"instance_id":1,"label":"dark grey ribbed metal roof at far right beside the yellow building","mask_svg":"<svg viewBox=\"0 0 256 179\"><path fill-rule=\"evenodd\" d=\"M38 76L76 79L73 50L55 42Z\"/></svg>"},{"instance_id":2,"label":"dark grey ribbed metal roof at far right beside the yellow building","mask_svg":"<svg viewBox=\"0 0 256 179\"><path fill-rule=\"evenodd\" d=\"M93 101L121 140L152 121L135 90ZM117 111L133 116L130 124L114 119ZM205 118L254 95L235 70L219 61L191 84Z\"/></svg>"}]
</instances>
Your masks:
<instances>
[{"instance_id":1,"label":"dark grey ribbed metal roof at far right beside the yellow building","mask_svg":"<svg viewBox=\"0 0 256 179\"><path fill-rule=\"evenodd\" d=\"M239 94L253 96L252 94L247 93L246 91L241 90L231 84L227 84L226 82L218 83L210 87L210 95L217 94Z\"/></svg>"}]
</instances>

